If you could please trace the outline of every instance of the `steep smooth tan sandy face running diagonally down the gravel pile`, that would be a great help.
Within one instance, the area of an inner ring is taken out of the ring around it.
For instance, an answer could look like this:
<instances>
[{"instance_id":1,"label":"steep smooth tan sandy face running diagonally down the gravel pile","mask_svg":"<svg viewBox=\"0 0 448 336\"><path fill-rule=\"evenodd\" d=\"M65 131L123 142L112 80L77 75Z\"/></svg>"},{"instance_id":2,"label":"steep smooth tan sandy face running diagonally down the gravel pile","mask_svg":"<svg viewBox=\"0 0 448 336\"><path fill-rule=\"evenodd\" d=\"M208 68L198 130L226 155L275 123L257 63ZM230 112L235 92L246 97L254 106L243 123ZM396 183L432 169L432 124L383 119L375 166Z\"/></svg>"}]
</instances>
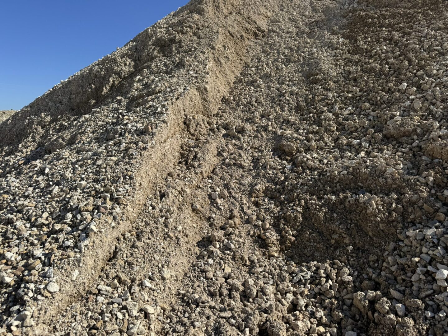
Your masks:
<instances>
[{"instance_id":1,"label":"steep smooth tan sandy face running diagonally down the gravel pile","mask_svg":"<svg viewBox=\"0 0 448 336\"><path fill-rule=\"evenodd\" d=\"M215 2L215 4L221 3ZM249 9L252 12L249 12ZM261 13L257 13L258 11ZM215 19L220 19L220 13L212 13L216 15ZM227 29L220 29L220 38L215 42L215 51L209 56L210 78L207 88L202 88L207 93L204 96L199 90L190 90L173 104L168 127L156 136L154 148L145 154L145 159L139 168L137 174L139 188L133 197L133 205L126 211L125 224L119 225L118 228L106 229L102 237L93 242L94 248L87 250L82 260L78 261L79 267L69 267L61 272L61 291L52 300L52 305L47 306L46 310L39 314L38 325L33 328L34 334L42 334L45 327L42 327L41 323L51 320L98 277L101 267L112 254L113 241L119 234L132 227L155 181L164 175L178 157L180 142L177 134L183 125L185 115L208 115L217 110L222 95L228 90L233 78L246 61L246 48L252 39L263 34L259 30L263 30L262 27L268 17L267 9L260 9L254 4L248 6L247 3L238 4L235 12L229 15ZM251 22L246 22L247 20ZM234 38L235 36L238 38ZM71 280L75 270L79 272L76 283Z\"/></svg>"}]
</instances>

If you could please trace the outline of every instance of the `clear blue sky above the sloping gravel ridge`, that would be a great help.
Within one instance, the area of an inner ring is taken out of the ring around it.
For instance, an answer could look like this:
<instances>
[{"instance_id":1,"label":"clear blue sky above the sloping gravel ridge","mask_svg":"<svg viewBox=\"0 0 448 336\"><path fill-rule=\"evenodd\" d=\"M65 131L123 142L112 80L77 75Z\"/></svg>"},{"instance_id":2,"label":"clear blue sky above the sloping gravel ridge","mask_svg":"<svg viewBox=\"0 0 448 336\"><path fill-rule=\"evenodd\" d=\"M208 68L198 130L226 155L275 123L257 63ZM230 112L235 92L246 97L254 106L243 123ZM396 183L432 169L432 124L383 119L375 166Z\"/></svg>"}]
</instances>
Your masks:
<instances>
[{"instance_id":1,"label":"clear blue sky above the sloping gravel ridge","mask_svg":"<svg viewBox=\"0 0 448 336\"><path fill-rule=\"evenodd\" d=\"M188 0L0 2L0 110L18 110Z\"/></svg>"}]
</instances>

